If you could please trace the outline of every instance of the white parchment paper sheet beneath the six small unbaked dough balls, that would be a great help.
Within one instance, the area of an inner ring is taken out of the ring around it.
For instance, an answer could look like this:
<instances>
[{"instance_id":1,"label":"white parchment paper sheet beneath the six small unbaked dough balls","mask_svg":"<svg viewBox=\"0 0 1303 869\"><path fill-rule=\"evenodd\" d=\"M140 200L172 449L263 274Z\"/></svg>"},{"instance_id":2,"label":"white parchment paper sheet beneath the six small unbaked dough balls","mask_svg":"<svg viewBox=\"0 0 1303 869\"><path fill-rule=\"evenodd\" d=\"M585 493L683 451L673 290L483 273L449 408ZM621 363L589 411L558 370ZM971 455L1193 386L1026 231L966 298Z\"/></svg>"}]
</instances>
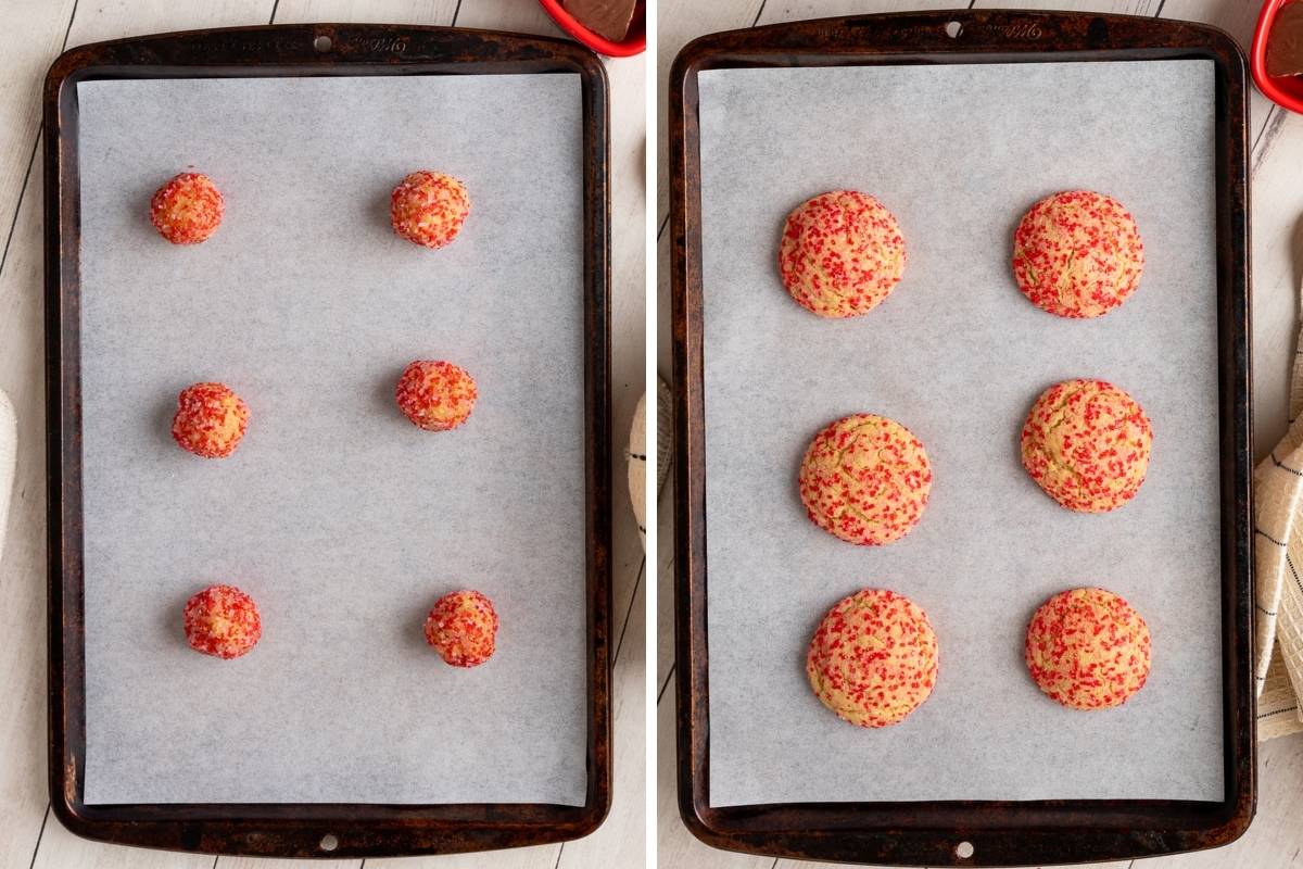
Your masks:
<instances>
[{"instance_id":1,"label":"white parchment paper sheet beneath the six small unbaked dough balls","mask_svg":"<svg viewBox=\"0 0 1303 869\"><path fill-rule=\"evenodd\" d=\"M582 107L577 76L79 83L86 783L95 803L558 803L586 786ZM173 248L163 181L225 220ZM394 236L409 171L461 178L451 246ZM478 380L447 434L395 408L413 358ZM238 452L175 447L176 393L248 401ZM181 606L249 591L250 654ZM498 651L425 645L477 588Z\"/></svg>"}]
</instances>

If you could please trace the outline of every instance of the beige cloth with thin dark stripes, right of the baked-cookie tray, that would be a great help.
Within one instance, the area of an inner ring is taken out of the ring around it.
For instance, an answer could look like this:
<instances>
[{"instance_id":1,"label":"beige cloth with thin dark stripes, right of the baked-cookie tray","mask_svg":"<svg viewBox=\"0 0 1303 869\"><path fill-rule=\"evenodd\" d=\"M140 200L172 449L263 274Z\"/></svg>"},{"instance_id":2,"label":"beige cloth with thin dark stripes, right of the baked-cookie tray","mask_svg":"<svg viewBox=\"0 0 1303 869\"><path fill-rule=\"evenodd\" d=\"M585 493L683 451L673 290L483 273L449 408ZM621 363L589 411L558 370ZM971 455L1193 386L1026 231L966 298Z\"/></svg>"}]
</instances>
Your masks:
<instances>
[{"instance_id":1,"label":"beige cloth with thin dark stripes, right of the baked-cookie tray","mask_svg":"<svg viewBox=\"0 0 1303 869\"><path fill-rule=\"evenodd\" d=\"M1290 430L1253 472L1253 677L1257 739L1268 740L1303 731L1303 332L1290 379Z\"/></svg>"}]
</instances>

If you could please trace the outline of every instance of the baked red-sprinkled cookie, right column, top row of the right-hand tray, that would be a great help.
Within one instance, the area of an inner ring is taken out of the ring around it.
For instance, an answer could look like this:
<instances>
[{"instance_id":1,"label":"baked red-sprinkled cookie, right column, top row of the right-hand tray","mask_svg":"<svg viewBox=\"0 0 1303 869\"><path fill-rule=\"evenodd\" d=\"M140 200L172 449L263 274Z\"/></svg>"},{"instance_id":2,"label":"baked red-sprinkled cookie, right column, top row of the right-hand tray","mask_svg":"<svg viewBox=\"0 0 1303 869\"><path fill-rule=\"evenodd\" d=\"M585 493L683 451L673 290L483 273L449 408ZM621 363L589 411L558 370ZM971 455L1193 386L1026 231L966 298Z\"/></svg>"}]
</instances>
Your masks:
<instances>
[{"instance_id":1,"label":"baked red-sprinkled cookie, right column, top row of the right-hand tray","mask_svg":"<svg viewBox=\"0 0 1303 869\"><path fill-rule=\"evenodd\" d=\"M1059 317L1109 313L1135 292L1143 270L1136 221L1100 193L1070 190L1041 199L1014 233L1018 288Z\"/></svg>"}]
</instances>

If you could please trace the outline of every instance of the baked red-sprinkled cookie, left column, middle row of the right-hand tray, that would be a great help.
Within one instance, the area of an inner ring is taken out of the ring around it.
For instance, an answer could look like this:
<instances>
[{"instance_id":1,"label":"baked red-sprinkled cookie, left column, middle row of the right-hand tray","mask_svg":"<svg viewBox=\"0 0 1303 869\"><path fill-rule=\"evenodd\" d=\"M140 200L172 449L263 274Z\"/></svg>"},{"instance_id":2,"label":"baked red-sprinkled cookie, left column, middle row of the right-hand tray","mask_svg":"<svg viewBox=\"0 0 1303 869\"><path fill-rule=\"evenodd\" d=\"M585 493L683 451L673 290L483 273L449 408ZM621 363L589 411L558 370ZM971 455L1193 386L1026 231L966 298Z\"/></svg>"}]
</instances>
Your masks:
<instances>
[{"instance_id":1,"label":"baked red-sprinkled cookie, left column, middle row of the right-hand tray","mask_svg":"<svg viewBox=\"0 0 1303 869\"><path fill-rule=\"evenodd\" d=\"M857 413L814 436L797 485L812 522L848 543L881 546L908 534L923 516L932 465L903 425Z\"/></svg>"}]
</instances>

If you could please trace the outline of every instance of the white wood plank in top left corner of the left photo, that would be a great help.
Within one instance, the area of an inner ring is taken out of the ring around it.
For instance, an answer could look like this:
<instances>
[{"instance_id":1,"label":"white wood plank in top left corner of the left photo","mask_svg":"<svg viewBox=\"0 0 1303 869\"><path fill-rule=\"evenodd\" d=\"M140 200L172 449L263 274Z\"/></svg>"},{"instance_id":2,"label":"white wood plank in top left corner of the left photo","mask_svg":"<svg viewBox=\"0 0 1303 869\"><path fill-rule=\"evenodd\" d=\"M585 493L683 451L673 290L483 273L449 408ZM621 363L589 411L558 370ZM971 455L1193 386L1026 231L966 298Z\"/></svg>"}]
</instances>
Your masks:
<instances>
[{"instance_id":1,"label":"white wood plank in top left corner of the left photo","mask_svg":"<svg viewBox=\"0 0 1303 869\"><path fill-rule=\"evenodd\" d=\"M64 44L73 5L73 0L5 5L0 27L0 251L18 210L40 128L42 82Z\"/></svg>"}]
</instances>

